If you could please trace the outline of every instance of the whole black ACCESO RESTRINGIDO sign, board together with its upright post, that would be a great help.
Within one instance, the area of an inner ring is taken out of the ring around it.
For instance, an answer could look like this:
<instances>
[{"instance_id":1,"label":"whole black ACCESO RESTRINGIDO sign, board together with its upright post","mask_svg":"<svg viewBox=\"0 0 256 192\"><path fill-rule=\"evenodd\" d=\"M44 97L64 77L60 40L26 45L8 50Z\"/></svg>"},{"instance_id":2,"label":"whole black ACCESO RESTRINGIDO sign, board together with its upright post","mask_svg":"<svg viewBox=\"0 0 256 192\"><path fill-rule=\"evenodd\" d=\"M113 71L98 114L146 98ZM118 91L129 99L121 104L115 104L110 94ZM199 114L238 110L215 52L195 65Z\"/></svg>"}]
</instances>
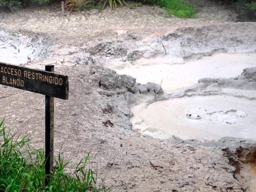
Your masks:
<instances>
[{"instance_id":1,"label":"whole black ACCESO RESTRINGIDO sign, board together with its upright post","mask_svg":"<svg viewBox=\"0 0 256 192\"><path fill-rule=\"evenodd\" d=\"M68 76L54 73L53 65L45 71L0 62L0 84L45 95L45 185L53 170L54 97L68 99Z\"/></svg>"}]
</instances>

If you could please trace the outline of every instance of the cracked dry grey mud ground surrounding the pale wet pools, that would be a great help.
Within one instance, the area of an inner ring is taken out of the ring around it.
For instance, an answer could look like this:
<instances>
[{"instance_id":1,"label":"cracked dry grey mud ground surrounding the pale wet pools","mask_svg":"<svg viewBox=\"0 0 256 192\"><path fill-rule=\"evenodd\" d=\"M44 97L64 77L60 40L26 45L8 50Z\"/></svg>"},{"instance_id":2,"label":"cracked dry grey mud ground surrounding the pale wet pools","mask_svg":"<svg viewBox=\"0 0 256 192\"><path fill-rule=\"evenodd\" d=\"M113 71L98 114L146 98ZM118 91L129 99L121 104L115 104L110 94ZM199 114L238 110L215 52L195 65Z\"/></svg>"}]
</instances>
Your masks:
<instances>
[{"instance_id":1,"label":"cracked dry grey mud ground surrounding the pale wet pools","mask_svg":"<svg viewBox=\"0 0 256 192\"><path fill-rule=\"evenodd\" d=\"M256 24L234 22L235 12L223 5L202 8L197 19L164 14L149 6L88 10L65 17L54 6L26 9L0 13L0 39L9 34L15 40L36 40L34 60L22 65L44 69L54 64L56 73L69 76L69 99L55 99L54 154L77 163L91 150L90 161L96 162L91 166L98 166L98 176L114 191L253 192L252 178L239 176L234 162L239 166L245 162L237 157L237 149L255 148L255 140L175 136L160 140L134 129L131 108L150 105L154 98L256 98L254 68L238 77L204 78L168 92L158 84L140 84L116 74L112 69L132 65L182 64L217 53L255 54ZM29 133L32 146L43 148L44 96L1 85L0 102L5 124L22 135Z\"/></svg>"}]
</instances>

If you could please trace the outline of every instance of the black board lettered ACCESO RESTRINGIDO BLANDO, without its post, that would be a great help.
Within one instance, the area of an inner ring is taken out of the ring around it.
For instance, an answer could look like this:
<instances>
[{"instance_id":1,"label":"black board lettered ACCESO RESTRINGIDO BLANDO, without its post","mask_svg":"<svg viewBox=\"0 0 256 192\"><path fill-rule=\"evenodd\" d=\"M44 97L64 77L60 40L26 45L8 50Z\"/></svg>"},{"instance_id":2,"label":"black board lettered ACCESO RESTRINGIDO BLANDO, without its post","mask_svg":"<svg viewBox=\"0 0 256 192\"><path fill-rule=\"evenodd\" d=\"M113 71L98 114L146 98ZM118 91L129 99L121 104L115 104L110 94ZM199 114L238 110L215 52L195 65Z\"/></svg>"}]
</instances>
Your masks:
<instances>
[{"instance_id":1,"label":"black board lettered ACCESO RESTRINGIDO BLANDO, without its post","mask_svg":"<svg viewBox=\"0 0 256 192\"><path fill-rule=\"evenodd\" d=\"M0 84L68 99L68 76L0 62Z\"/></svg>"}]
</instances>

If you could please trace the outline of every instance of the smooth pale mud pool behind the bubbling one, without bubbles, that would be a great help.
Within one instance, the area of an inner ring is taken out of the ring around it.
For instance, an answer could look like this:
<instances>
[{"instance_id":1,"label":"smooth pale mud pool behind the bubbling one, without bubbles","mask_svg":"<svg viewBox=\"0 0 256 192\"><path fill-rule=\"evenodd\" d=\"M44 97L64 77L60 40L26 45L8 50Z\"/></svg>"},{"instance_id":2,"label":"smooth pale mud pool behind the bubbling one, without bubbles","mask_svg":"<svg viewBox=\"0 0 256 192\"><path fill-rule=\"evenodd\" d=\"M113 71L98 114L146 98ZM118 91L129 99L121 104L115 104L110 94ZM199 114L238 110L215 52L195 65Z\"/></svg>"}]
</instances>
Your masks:
<instances>
[{"instance_id":1,"label":"smooth pale mud pool behind the bubbling one, without bubbles","mask_svg":"<svg viewBox=\"0 0 256 192\"><path fill-rule=\"evenodd\" d=\"M184 64L156 64L128 66L116 70L118 74L135 77L138 83L161 83L164 90L173 90L196 84L204 77L229 78L241 74L244 68L256 66L256 54L215 54ZM170 61L171 62L171 61Z\"/></svg>"}]
</instances>

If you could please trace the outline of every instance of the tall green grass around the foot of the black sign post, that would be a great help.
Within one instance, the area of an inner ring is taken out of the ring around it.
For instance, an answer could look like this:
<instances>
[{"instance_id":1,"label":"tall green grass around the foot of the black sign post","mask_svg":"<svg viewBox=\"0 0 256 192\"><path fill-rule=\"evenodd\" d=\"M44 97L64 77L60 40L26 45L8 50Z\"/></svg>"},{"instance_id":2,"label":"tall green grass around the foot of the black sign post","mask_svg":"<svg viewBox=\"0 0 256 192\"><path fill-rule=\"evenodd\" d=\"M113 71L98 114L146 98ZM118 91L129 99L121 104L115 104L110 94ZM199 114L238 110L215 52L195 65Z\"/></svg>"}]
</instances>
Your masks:
<instances>
[{"instance_id":1,"label":"tall green grass around the foot of the black sign post","mask_svg":"<svg viewBox=\"0 0 256 192\"><path fill-rule=\"evenodd\" d=\"M45 186L44 152L32 149L28 135L20 138L0 122L0 192L110 192L97 183L97 175L88 167L88 156L67 172L70 162L58 156L48 186ZM86 167L88 167L86 169Z\"/></svg>"}]
</instances>

